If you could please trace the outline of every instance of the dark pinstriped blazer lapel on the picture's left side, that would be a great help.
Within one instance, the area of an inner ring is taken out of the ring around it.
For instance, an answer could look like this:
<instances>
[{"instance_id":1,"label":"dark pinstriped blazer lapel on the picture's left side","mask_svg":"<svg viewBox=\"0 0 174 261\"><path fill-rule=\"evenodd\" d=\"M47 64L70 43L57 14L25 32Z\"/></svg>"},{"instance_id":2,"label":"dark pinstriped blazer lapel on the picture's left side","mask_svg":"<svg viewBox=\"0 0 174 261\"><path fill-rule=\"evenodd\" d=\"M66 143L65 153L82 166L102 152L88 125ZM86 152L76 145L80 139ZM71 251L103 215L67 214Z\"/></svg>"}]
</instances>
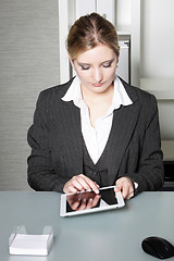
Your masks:
<instances>
[{"instance_id":1,"label":"dark pinstriped blazer lapel on the picture's left side","mask_svg":"<svg viewBox=\"0 0 174 261\"><path fill-rule=\"evenodd\" d=\"M74 105L73 101L61 102L59 108L59 144L61 145L61 153L66 157L69 170L74 175L83 173L83 144L80 132L80 111ZM58 129L57 128L57 129Z\"/></svg>"}]
</instances>

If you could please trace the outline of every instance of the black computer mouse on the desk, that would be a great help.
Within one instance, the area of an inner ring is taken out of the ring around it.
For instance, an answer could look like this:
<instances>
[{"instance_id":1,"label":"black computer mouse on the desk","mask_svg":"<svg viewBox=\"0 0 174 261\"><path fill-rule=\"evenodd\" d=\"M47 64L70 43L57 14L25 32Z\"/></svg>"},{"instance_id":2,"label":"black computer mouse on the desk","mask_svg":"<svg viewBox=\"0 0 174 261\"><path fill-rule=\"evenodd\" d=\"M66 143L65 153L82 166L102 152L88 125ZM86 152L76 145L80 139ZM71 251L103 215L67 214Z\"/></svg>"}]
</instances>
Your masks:
<instances>
[{"instance_id":1,"label":"black computer mouse on the desk","mask_svg":"<svg viewBox=\"0 0 174 261\"><path fill-rule=\"evenodd\" d=\"M145 252L159 259L174 257L174 246L162 237L147 237L142 240L141 247Z\"/></svg>"}]
</instances>

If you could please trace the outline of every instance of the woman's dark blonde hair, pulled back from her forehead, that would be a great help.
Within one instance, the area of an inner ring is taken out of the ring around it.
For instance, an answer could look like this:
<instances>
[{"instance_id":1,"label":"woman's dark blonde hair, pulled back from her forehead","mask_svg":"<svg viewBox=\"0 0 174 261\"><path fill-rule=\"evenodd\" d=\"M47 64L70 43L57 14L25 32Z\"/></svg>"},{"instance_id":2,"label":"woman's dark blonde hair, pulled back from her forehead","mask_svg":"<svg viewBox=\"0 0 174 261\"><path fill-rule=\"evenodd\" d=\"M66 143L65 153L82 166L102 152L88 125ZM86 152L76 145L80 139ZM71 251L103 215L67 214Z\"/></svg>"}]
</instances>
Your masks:
<instances>
[{"instance_id":1,"label":"woman's dark blonde hair, pulled back from her forehead","mask_svg":"<svg viewBox=\"0 0 174 261\"><path fill-rule=\"evenodd\" d=\"M66 44L72 60L100 44L113 49L117 57L120 52L117 33L114 26L98 13L79 17L70 29Z\"/></svg>"}]
</instances>

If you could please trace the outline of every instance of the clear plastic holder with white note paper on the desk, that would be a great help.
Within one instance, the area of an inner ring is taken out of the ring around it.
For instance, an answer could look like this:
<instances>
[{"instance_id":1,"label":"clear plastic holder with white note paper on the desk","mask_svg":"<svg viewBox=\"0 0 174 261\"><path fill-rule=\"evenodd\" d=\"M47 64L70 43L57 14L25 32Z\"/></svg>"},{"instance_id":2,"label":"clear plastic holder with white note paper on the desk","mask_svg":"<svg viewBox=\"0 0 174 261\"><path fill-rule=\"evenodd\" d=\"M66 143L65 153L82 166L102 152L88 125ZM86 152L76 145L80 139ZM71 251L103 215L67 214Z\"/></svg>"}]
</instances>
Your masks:
<instances>
[{"instance_id":1,"label":"clear plastic holder with white note paper on the desk","mask_svg":"<svg viewBox=\"0 0 174 261\"><path fill-rule=\"evenodd\" d=\"M47 256L52 243L50 226L44 228L42 235L28 235L24 226L17 226L9 238L9 251L10 254Z\"/></svg>"}]
</instances>

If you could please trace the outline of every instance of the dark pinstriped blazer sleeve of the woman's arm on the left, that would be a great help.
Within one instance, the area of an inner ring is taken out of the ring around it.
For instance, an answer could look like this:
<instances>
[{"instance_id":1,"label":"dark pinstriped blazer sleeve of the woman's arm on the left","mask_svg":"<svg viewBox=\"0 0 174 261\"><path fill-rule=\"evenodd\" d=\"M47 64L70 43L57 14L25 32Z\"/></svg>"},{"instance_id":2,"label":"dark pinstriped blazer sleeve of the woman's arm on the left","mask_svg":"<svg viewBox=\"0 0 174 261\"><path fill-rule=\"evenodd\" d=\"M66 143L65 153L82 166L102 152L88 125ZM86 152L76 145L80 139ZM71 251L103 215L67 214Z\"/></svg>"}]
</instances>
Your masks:
<instances>
[{"instance_id":1,"label":"dark pinstriped blazer sleeve of the woman's arm on the left","mask_svg":"<svg viewBox=\"0 0 174 261\"><path fill-rule=\"evenodd\" d=\"M48 121L49 102L45 91L40 92L34 124L28 129L27 141L32 153L27 159L27 181L29 186L37 191L63 191L67 177L55 173L51 159L50 129Z\"/></svg>"}]
</instances>

